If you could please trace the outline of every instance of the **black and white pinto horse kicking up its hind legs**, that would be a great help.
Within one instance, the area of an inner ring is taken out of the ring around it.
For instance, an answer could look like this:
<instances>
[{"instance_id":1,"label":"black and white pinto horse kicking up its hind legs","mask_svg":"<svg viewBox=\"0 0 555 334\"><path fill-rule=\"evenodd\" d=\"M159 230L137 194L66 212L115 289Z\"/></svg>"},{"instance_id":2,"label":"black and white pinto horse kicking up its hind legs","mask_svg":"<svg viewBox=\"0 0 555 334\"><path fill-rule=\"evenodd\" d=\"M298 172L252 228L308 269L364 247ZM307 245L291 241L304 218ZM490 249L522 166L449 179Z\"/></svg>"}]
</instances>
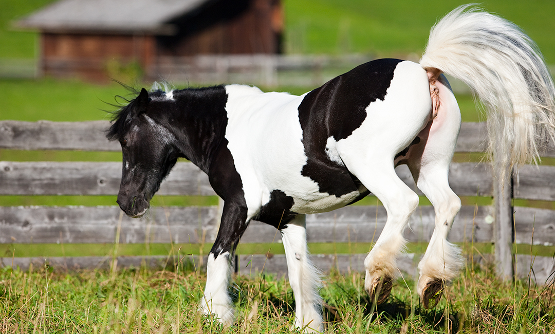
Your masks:
<instances>
[{"instance_id":1,"label":"black and white pinto horse kicking up its hind legs","mask_svg":"<svg viewBox=\"0 0 555 334\"><path fill-rule=\"evenodd\" d=\"M496 166L535 160L539 145L553 137L553 82L536 45L514 24L461 6L432 28L420 64L374 60L301 96L246 85L143 88L115 114L107 135L123 150L118 204L127 215L142 216L176 160L189 159L225 203L200 309L234 321L230 259L255 219L281 232L295 326L322 331L305 215L370 193L380 199L387 222L365 260L365 289L383 302L398 271L403 230L418 205L417 194L395 173L406 164L435 208L417 284L423 305L435 307L463 263L446 240L461 207L447 181L461 115L442 72L462 79L485 104L490 150L507 156ZM503 167L497 170L507 177Z\"/></svg>"}]
</instances>

